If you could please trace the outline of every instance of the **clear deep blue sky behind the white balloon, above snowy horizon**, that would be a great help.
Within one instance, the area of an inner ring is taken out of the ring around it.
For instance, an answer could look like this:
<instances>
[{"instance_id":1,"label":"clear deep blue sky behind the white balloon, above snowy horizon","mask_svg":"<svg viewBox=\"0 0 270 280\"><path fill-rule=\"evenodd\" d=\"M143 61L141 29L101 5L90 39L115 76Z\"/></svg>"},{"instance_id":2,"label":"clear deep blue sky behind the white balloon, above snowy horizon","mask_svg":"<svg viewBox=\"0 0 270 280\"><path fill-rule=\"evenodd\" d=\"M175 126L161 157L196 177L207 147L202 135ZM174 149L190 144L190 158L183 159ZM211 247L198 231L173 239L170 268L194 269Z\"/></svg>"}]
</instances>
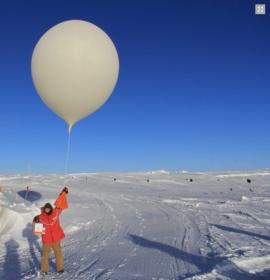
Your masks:
<instances>
[{"instance_id":1,"label":"clear deep blue sky behind the white balloon, above snowy horizon","mask_svg":"<svg viewBox=\"0 0 270 280\"><path fill-rule=\"evenodd\" d=\"M1 1L0 172L64 172L67 127L35 92L31 55L64 20L114 41L114 93L72 132L70 172L270 167L270 3Z\"/></svg>"}]
</instances>

